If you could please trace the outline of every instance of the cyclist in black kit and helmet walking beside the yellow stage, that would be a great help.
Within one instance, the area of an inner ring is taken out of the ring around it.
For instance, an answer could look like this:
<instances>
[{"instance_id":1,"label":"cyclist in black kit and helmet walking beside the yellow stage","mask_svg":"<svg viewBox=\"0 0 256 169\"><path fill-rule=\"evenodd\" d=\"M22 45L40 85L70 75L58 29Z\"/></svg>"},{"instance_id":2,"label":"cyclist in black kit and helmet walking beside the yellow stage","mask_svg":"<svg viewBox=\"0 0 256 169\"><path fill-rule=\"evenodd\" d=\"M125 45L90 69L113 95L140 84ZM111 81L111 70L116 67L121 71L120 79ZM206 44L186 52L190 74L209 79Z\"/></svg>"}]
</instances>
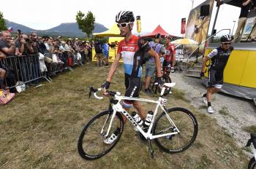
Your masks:
<instances>
[{"instance_id":1,"label":"cyclist in black kit and helmet walking beside the yellow stage","mask_svg":"<svg viewBox=\"0 0 256 169\"><path fill-rule=\"evenodd\" d=\"M223 72L225 66L227 65L227 60L230 57L230 53L234 49L231 46L232 39L229 34L222 36L220 41L220 47L212 50L208 56L203 58L200 73L200 76L204 76L206 62L211 60L211 66L208 68L207 91L205 94L203 94L203 103L208 106L207 111L209 114L214 113L214 110L211 108L211 95L219 92L219 90L222 88Z\"/></svg>"}]
</instances>

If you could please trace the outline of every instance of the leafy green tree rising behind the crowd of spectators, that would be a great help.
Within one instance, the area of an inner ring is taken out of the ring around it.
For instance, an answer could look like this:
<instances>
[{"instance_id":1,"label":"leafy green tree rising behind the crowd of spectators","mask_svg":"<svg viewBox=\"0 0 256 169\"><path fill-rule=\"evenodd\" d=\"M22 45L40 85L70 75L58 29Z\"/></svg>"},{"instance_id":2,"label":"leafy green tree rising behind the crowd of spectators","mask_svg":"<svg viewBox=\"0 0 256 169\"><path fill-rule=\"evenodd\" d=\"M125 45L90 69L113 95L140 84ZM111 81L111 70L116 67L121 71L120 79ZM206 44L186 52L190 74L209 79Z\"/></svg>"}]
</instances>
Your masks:
<instances>
[{"instance_id":1,"label":"leafy green tree rising behind the crowd of spectators","mask_svg":"<svg viewBox=\"0 0 256 169\"><path fill-rule=\"evenodd\" d=\"M95 17L91 11L89 11L86 15L83 12L78 11L75 16L75 20L77 20L78 28L86 33L87 38L89 38L94 31L94 22Z\"/></svg>"}]
</instances>

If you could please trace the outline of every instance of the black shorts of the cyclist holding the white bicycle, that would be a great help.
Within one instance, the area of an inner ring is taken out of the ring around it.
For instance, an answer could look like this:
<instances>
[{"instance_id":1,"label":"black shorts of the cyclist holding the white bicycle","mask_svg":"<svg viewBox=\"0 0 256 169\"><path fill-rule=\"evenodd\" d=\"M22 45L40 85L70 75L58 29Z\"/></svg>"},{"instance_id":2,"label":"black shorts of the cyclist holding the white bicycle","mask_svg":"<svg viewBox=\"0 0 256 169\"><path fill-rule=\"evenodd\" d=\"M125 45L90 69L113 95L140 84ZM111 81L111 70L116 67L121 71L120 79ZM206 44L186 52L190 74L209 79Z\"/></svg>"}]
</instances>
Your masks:
<instances>
[{"instance_id":1,"label":"black shorts of the cyclist holding the white bicycle","mask_svg":"<svg viewBox=\"0 0 256 169\"><path fill-rule=\"evenodd\" d=\"M126 92L124 96L131 98L138 98L140 94L141 81L140 77L132 77L129 74L124 74ZM127 101L126 101L127 102ZM132 103L132 101L129 101Z\"/></svg>"}]
</instances>

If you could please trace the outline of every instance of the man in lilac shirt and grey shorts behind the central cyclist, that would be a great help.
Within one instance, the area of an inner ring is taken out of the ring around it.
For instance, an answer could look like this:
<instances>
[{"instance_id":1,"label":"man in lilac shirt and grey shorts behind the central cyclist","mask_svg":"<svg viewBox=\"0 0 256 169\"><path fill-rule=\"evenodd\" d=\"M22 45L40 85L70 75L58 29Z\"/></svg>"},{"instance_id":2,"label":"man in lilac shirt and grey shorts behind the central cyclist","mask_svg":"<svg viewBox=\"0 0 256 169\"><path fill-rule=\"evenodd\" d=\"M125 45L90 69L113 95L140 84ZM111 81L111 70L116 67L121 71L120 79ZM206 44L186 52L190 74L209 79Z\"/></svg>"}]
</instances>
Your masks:
<instances>
[{"instance_id":1,"label":"man in lilac shirt and grey shorts behind the central cyclist","mask_svg":"<svg viewBox=\"0 0 256 169\"><path fill-rule=\"evenodd\" d=\"M161 41L161 34L156 34L154 36L154 42L151 41L149 42L149 46L152 47L152 49L154 51L156 51L159 54L159 57L161 57L162 55L165 54L165 47L160 44ZM148 54L146 54L148 55ZM150 84L151 81L151 77L154 75L154 72L156 70L155 67L155 61L154 61L154 57L151 57L150 55L148 56L148 60L146 60L146 81L145 81L145 90L144 93L146 94L150 94L151 91L148 89L148 86Z\"/></svg>"}]
</instances>

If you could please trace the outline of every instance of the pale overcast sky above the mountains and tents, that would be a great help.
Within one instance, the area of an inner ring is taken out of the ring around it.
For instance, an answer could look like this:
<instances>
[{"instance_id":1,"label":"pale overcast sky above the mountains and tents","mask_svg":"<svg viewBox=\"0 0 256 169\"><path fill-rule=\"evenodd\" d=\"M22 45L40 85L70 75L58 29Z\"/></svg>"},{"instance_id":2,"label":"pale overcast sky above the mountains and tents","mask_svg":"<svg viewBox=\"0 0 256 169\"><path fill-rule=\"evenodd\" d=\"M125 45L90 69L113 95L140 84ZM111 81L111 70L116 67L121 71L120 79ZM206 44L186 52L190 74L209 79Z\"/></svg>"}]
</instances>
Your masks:
<instances>
[{"instance_id":1,"label":"pale overcast sky above the mountains and tents","mask_svg":"<svg viewBox=\"0 0 256 169\"><path fill-rule=\"evenodd\" d=\"M193 7L203 1L194 0ZM131 10L135 16L140 15L142 32L154 31L157 25L161 25L165 31L173 35L181 35L181 18L188 18L191 9L192 0L12 0L1 3L0 6L5 19L37 30L53 28L61 23L73 23L79 10L83 13L91 11L96 23L110 28L115 23L115 16L119 11ZM223 5L219 9L217 30L232 29L233 20L236 20L237 25L239 14L238 7Z\"/></svg>"}]
</instances>

